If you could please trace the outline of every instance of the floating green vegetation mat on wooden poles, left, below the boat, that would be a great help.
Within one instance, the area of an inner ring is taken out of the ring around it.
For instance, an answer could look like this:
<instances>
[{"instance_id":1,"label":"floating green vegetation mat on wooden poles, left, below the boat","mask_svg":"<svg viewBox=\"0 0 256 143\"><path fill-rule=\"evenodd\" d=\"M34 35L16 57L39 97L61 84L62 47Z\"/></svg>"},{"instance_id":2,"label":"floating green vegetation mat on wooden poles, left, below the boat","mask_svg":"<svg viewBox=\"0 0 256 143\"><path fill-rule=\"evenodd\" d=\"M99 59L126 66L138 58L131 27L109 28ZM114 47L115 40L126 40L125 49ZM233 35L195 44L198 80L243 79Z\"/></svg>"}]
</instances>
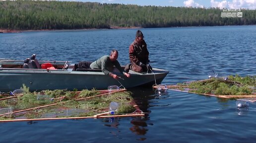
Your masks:
<instances>
[{"instance_id":1,"label":"floating green vegetation mat on wooden poles, left, below the boat","mask_svg":"<svg viewBox=\"0 0 256 143\"><path fill-rule=\"evenodd\" d=\"M119 103L116 113L131 113L136 110L133 107L133 98L127 91L106 93L95 89L77 91L44 90L30 93L25 86L22 96L0 101L0 108L10 108L13 112L1 113L0 119L34 119L57 117L81 117L92 116L102 112L108 112L111 102ZM104 93L104 94L103 94ZM98 96L102 94L102 96ZM93 97L85 99L86 97ZM82 100L81 100L82 99Z\"/></svg>"}]
</instances>

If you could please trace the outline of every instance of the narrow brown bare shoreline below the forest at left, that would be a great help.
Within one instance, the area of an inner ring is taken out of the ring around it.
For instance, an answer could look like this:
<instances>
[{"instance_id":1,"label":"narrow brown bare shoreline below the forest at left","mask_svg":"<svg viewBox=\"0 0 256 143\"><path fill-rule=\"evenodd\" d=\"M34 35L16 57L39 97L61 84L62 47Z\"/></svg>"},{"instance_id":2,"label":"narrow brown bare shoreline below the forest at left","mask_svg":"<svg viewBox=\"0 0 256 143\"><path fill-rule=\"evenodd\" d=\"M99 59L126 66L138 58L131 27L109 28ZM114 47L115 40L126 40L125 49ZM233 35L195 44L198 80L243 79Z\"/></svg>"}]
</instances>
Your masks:
<instances>
[{"instance_id":1,"label":"narrow brown bare shoreline below the forest at left","mask_svg":"<svg viewBox=\"0 0 256 143\"><path fill-rule=\"evenodd\" d=\"M120 26L110 26L109 29L141 29L142 27L120 27ZM101 28L99 28L101 29ZM0 33L22 33L22 32L40 32L40 31L89 31L89 30L99 30L97 28L86 28L86 29L44 29L44 30L7 30L0 29ZM104 29L104 28L102 28Z\"/></svg>"}]
</instances>

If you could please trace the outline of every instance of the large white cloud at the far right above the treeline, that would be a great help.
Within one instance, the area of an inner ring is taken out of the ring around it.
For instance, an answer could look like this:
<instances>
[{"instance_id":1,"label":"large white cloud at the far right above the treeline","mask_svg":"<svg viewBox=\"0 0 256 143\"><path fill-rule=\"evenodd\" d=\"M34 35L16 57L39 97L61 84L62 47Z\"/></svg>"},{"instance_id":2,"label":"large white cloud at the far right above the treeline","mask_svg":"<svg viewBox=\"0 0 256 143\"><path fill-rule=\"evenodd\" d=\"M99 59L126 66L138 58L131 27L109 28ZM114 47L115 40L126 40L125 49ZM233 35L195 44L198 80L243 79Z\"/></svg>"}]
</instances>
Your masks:
<instances>
[{"instance_id":1,"label":"large white cloud at the far right above the treeline","mask_svg":"<svg viewBox=\"0 0 256 143\"><path fill-rule=\"evenodd\" d=\"M211 7L219 7L222 8L230 8L230 9L240 9L240 8L248 8L248 9L256 9L256 0L222 0L215 1L211 0Z\"/></svg>"}]
</instances>

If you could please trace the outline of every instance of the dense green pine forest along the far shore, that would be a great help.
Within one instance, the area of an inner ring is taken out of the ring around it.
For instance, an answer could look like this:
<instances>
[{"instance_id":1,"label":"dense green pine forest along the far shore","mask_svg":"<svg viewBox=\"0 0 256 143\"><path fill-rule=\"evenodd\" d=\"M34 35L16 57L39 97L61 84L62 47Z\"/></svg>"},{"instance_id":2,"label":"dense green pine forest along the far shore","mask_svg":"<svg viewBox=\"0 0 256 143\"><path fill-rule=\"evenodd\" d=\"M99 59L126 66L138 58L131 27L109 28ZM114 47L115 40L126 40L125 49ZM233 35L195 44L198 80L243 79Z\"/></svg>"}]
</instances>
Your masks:
<instances>
[{"instance_id":1,"label":"dense green pine forest along the far shore","mask_svg":"<svg viewBox=\"0 0 256 143\"><path fill-rule=\"evenodd\" d=\"M256 10L222 18L222 9L138 6L97 2L0 1L0 29L46 30L120 27L182 27L256 24Z\"/></svg>"}]
</instances>

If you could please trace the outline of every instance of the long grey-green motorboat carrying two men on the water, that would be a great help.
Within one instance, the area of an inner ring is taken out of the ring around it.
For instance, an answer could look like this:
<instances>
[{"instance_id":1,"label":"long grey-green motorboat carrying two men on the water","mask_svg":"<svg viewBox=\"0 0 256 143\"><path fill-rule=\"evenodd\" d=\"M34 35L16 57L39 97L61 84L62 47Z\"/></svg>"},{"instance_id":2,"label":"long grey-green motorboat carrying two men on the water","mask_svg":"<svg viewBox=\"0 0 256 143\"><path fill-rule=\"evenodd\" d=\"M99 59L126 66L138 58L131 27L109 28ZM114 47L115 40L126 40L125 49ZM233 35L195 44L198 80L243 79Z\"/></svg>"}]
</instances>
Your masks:
<instances>
[{"instance_id":1,"label":"long grey-green motorboat carrying two men on the water","mask_svg":"<svg viewBox=\"0 0 256 143\"><path fill-rule=\"evenodd\" d=\"M24 67L23 60L0 59L0 92L9 92L20 89L23 84L30 91L41 90L83 90L107 89L108 86L117 85L124 88L138 86L152 87L160 84L169 71L153 68L152 72L138 73L129 71L130 77L114 72L121 78L116 80L105 75L101 70L76 69L76 64L69 61L37 61L40 66L44 63L53 65L52 69L28 69ZM124 67L123 67L124 68ZM55 70L56 69L56 70Z\"/></svg>"}]
</instances>

